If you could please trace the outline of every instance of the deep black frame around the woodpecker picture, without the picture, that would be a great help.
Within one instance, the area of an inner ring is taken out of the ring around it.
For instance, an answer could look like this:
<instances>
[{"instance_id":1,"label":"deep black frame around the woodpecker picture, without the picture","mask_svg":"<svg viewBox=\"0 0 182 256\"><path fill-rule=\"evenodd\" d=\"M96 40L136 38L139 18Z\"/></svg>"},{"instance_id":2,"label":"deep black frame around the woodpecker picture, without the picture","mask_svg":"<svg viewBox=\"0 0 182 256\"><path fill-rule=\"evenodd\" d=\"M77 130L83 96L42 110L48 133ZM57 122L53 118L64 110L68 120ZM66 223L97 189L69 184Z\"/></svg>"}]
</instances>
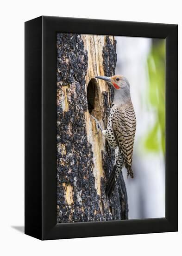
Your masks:
<instances>
[{"instance_id":1,"label":"deep black frame around the woodpecker picture, without the picture","mask_svg":"<svg viewBox=\"0 0 182 256\"><path fill-rule=\"evenodd\" d=\"M56 32L166 39L165 218L56 223ZM177 25L41 16L25 22L25 234L41 240L177 231Z\"/></svg>"}]
</instances>

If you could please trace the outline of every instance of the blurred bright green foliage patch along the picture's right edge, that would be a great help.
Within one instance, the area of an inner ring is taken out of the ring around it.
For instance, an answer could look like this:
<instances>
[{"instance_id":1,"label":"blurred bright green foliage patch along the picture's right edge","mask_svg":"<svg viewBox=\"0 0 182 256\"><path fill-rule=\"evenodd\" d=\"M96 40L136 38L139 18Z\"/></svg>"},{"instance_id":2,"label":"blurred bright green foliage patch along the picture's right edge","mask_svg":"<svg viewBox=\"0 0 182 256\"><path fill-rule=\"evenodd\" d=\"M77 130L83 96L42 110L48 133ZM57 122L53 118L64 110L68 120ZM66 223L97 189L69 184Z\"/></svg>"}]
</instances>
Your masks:
<instances>
[{"instance_id":1,"label":"blurred bright green foliage patch along the picture's right edge","mask_svg":"<svg viewBox=\"0 0 182 256\"><path fill-rule=\"evenodd\" d=\"M165 40L153 43L148 56L149 90L148 99L156 113L153 128L145 135L147 150L165 154Z\"/></svg>"}]
</instances>

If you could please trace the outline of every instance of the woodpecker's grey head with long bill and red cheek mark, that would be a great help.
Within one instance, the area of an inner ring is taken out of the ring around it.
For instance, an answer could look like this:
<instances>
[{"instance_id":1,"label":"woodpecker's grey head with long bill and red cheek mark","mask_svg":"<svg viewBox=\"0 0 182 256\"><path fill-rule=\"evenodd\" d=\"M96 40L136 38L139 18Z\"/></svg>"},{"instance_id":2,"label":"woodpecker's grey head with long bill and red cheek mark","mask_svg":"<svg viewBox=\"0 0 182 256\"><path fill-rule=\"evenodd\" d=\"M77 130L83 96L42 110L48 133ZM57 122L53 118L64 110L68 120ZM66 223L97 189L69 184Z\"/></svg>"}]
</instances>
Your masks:
<instances>
[{"instance_id":1,"label":"woodpecker's grey head with long bill and red cheek mark","mask_svg":"<svg viewBox=\"0 0 182 256\"><path fill-rule=\"evenodd\" d=\"M114 88L114 104L126 104L131 101L130 84L123 75L95 76L95 78L107 81Z\"/></svg>"}]
</instances>

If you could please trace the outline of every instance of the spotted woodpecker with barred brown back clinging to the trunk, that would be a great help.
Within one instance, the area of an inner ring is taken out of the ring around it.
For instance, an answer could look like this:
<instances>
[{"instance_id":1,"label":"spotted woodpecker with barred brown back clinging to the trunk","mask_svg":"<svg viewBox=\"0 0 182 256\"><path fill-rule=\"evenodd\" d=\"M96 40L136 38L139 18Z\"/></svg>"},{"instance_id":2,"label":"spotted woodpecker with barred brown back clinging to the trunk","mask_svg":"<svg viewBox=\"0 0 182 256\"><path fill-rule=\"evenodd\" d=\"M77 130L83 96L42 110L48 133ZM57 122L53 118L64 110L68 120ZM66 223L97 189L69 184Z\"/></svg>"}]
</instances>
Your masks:
<instances>
[{"instance_id":1,"label":"spotted woodpecker with barred brown back clinging to the trunk","mask_svg":"<svg viewBox=\"0 0 182 256\"><path fill-rule=\"evenodd\" d=\"M136 131L136 117L130 95L130 84L123 75L96 76L107 81L114 88L114 99L107 122L107 129L102 130L108 143L115 148L115 165L106 187L106 195L113 192L115 183L125 166L128 175L133 178L132 154ZM100 126L99 126L100 127Z\"/></svg>"}]
</instances>

